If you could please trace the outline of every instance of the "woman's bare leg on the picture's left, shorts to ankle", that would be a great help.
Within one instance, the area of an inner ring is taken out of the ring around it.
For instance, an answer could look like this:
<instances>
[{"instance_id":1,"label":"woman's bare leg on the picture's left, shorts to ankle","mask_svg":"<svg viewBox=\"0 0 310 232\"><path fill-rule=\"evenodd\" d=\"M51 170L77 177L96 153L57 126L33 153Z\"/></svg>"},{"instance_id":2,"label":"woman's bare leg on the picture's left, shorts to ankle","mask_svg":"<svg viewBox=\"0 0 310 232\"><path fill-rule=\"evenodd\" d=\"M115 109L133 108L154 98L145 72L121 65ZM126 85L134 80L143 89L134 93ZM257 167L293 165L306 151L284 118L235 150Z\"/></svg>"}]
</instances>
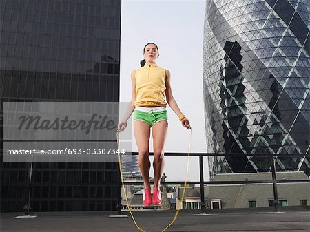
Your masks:
<instances>
[{"instance_id":1,"label":"woman's bare leg on the picture's left, shorts to ankle","mask_svg":"<svg viewBox=\"0 0 310 232\"><path fill-rule=\"evenodd\" d=\"M151 189L149 184L149 134L150 127L142 121L134 121L134 136L138 147L138 165L142 174L145 189Z\"/></svg>"}]
</instances>

